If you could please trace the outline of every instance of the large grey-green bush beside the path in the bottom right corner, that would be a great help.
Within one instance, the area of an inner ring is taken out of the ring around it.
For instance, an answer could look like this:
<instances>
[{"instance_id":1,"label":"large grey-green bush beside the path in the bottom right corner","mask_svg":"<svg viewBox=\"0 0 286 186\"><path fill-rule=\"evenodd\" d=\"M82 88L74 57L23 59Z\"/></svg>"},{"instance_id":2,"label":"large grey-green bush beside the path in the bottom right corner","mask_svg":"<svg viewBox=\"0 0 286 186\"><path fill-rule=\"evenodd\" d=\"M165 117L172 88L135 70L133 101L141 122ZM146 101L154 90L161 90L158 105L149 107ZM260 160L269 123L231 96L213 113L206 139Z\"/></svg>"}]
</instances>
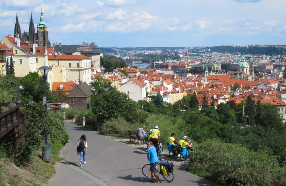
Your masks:
<instances>
[{"instance_id":1,"label":"large grey-green bush beside the path in the bottom right corner","mask_svg":"<svg viewBox=\"0 0 286 186\"><path fill-rule=\"evenodd\" d=\"M276 157L263 151L219 140L206 140L195 148L189 170L209 172L220 185L279 185L286 175L286 167L279 167Z\"/></svg>"}]
</instances>

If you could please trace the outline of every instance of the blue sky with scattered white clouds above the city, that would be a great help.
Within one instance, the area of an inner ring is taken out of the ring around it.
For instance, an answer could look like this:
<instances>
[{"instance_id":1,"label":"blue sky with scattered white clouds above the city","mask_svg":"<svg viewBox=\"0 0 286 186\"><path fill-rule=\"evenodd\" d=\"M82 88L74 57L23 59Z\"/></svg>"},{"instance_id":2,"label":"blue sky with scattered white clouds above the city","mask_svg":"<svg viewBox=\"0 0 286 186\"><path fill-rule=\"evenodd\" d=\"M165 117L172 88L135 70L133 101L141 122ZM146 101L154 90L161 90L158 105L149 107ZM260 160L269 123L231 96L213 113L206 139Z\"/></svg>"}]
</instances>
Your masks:
<instances>
[{"instance_id":1,"label":"blue sky with scattered white clouds above the city","mask_svg":"<svg viewBox=\"0 0 286 186\"><path fill-rule=\"evenodd\" d=\"M285 0L3 0L0 33L41 7L51 44L99 47L285 45ZM1 36L2 37L2 36Z\"/></svg>"}]
</instances>

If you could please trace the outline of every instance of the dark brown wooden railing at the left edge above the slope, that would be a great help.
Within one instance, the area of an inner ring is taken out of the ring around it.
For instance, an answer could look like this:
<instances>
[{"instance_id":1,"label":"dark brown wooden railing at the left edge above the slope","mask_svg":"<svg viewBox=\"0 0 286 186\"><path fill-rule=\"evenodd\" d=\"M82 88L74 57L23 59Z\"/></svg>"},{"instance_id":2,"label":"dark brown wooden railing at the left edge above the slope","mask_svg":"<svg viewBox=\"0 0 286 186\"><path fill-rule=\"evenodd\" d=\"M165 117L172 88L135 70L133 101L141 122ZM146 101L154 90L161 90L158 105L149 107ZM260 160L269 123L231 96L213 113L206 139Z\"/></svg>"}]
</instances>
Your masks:
<instances>
[{"instance_id":1,"label":"dark brown wooden railing at the left edge above the slope","mask_svg":"<svg viewBox=\"0 0 286 186\"><path fill-rule=\"evenodd\" d=\"M1 106L8 106L7 103L0 103ZM0 138L8 132L17 128L21 132L28 125L28 114L25 110L20 112L21 103L0 114Z\"/></svg>"}]
</instances>

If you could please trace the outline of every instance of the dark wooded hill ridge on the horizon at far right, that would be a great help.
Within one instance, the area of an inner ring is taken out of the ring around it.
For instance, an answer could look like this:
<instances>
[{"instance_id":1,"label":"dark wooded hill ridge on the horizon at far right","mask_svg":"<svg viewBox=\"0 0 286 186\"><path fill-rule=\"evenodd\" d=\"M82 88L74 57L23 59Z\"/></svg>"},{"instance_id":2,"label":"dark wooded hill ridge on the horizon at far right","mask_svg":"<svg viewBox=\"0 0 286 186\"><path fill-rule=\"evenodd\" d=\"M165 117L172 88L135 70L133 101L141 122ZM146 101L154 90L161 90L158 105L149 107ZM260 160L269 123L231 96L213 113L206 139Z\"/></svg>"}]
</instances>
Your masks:
<instances>
[{"instance_id":1,"label":"dark wooded hill ridge on the horizon at far right","mask_svg":"<svg viewBox=\"0 0 286 186\"><path fill-rule=\"evenodd\" d=\"M233 47L233 46L216 46L216 47L207 47L208 49L211 49L215 52L239 52L244 54L260 54L263 55L276 55L278 54L278 50L280 50L280 53L282 53L282 48L275 48L275 47ZM286 50L285 50L286 52Z\"/></svg>"}]
</instances>

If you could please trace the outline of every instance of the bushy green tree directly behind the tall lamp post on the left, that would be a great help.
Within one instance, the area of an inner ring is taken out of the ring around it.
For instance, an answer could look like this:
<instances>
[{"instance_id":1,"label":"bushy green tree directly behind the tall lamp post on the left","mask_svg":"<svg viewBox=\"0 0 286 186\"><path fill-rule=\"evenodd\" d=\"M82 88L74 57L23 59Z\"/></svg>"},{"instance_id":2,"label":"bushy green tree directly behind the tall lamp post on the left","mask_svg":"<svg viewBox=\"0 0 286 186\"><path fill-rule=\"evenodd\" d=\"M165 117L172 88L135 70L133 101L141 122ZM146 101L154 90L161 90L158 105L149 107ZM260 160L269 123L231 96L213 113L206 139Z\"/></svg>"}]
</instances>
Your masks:
<instances>
[{"instance_id":1,"label":"bushy green tree directly behind the tall lamp post on the left","mask_svg":"<svg viewBox=\"0 0 286 186\"><path fill-rule=\"evenodd\" d=\"M29 72L26 76L21 79L23 90L21 94L23 95L22 100L39 102L43 100L45 96L45 84L43 77L38 74L38 72ZM47 102L55 102L55 96L51 94L50 85L46 82L47 90Z\"/></svg>"}]
</instances>

